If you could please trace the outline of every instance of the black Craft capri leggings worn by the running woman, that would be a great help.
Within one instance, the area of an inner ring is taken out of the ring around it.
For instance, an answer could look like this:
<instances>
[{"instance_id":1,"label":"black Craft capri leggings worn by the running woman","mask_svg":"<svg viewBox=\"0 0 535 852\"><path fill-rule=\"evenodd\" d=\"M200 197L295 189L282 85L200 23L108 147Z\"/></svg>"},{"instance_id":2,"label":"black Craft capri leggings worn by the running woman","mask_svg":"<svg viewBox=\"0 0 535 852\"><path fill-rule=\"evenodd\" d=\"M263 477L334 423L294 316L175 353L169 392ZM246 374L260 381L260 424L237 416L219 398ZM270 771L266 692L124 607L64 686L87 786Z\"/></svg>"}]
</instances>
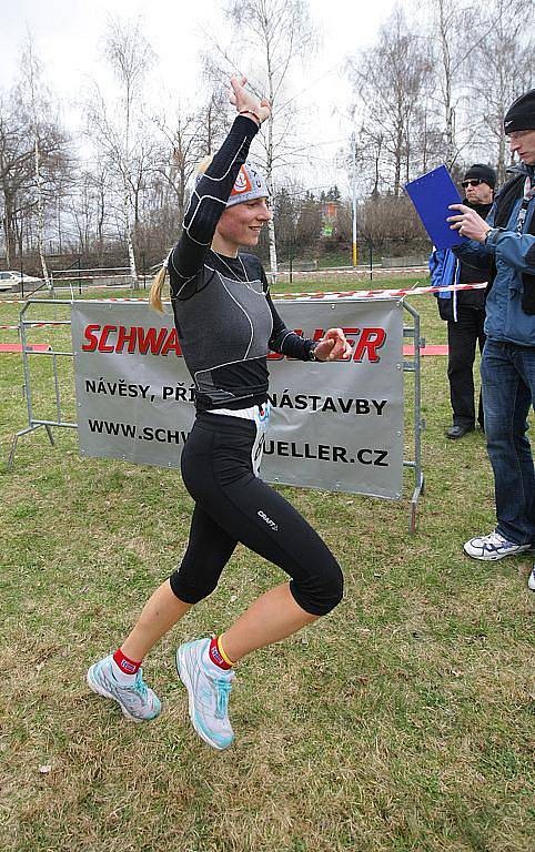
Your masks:
<instances>
[{"instance_id":1,"label":"black Craft capri leggings worn by the running woman","mask_svg":"<svg viewBox=\"0 0 535 852\"><path fill-rule=\"evenodd\" d=\"M188 550L170 578L173 592L196 604L216 587L239 541L290 575L299 606L323 616L340 602L343 577L317 532L253 474L256 424L200 414L182 453L182 477L195 500Z\"/></svg>"}]
</instances>

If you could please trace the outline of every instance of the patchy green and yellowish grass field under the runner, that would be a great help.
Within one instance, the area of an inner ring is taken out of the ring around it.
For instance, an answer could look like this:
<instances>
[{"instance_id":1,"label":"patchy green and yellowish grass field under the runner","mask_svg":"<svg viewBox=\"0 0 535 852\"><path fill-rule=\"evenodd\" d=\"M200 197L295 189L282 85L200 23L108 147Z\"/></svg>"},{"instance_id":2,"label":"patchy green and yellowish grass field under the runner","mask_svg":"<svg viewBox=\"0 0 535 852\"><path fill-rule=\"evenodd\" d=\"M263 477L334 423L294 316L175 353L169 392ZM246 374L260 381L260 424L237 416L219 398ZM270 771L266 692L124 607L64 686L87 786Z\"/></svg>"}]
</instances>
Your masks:
<instances>
[{"instance_id":1,"label":"patchy green and yellowish grass field under the runner","mask_svg":"<svg viewBox=\"0 0 535 852\"><path fill-rule=\"evenodd\" d=\"M334 284L353 286L294 290ZM412 304L427 343L445 342L434 300ZM0 324L17 315L0 303ZM52 335L68 339L48 328L32 339ZM40 412L52 413L50 359L32 365ZM60 369L69 383L70 362ZM345 597L239 667L236 744L223 753L190 728L174 648L223 629L281 572L239 549L147 661L164 712L125 722L85 670L180 559L192 501L178 473L82 459L74 432L57 429L55 448L41 430L20 440L0 473L1 852L532 852L532 561L463 556L493 527L493 480L480 433L444 437L445 369L423 359L415 536L408 475L400 503L281 489L339 557ZM2 462L27 424L22 383L20 356L0 354Z\"/></svg>"}]
</instances>

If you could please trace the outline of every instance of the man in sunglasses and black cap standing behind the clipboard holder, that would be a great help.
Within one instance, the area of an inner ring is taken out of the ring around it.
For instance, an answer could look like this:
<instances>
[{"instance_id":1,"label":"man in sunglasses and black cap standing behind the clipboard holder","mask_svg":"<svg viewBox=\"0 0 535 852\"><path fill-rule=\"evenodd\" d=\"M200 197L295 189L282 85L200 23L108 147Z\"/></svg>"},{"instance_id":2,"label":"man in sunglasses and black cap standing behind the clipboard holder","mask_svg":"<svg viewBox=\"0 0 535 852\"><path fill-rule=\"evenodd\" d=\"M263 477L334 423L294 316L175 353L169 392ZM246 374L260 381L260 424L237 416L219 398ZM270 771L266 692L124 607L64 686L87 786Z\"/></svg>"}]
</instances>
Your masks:
<instances>
[{"instance_id":1,"label":"man in sunglasses and black cap standing behind the clipboard holder","mask_svg":"<svg viewBox=\"0 0 535 852\"><path fill-rule=\"evenodd\" d=\"M488 165L475 163L462 182L466 193L464 204L486 219L493 203L496 173ZM485 281L481 270L461 262L450 251L434 251L430 258L431 283L435 287L452 284L475 284ZM462 438L475 427L474 375L476 346L483 352L485 335L485 288L444 291L438 294L438 312L447 321L450 399L453 426L446 429L448 438ZM483 406L480 395L477 420L483 428Z\"/></svg>"}]
</instances>

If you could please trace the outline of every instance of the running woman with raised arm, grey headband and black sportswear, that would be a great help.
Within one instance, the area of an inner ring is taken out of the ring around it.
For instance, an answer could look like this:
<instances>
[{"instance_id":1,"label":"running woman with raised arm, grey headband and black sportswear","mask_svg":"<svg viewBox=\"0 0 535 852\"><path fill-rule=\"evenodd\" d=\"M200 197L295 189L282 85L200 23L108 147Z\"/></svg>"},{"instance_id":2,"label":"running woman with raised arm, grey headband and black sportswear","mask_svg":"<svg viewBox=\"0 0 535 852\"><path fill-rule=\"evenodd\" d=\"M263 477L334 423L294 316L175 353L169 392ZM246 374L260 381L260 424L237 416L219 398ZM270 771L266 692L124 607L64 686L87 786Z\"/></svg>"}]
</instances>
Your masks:
<instances>
[{"instance_id":1,"label":"running woman with raised arm, grey headband and black sportswear","mask_svg":"<svg viewBox=\"0 0 535 852\"><path fill-rule=\"evenodd\" d=\"M241 541L282 568L284 582L258 598L232 627L212 639L182 645L176 669L189 694L195 731L215 749L233 739L228 714L233 667L248 653L294 633L341 600L342 571L326 545L299 513L259 478L269 422L269 349L301 361L346 358L340 328L320 342L289 331L270 297L253 254L271 214L263 178L246 161L270 105L232 78L238 116L198 181L184 227L168 263L171 301L182 352L195 387L196 418L181 458L184 485L195 501L188 550L178 570L152 595L113 656L91 666L88 683L141 722L160 713L142 679L141 662L182 616L216 587ZM165 266L151 290L162 310Z\"/></svg>"}]
</instances>

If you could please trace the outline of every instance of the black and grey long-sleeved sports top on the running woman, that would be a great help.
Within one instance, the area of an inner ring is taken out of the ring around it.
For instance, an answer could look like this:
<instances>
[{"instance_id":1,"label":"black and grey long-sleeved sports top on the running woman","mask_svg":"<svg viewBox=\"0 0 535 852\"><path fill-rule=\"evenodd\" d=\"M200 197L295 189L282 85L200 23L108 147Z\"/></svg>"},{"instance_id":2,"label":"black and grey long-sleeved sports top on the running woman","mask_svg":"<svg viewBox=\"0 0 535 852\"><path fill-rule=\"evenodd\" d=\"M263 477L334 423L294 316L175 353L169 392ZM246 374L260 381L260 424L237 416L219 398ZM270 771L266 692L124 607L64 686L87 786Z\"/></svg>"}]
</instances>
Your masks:
<instances>
[{"instance_id":1,"label":"black and grey long-sleeved sports top on the running woman","mask_svg":"<svg viewBox=\"0 0 535 852\"><path fill-rule=\"evenodd\" d=\"M309 361L314 345L284 325L255 255L226 257L210 247L256 132L252 119L235 119L193 192L169 258L174 320L198 410L264 403L269 349Z\"/></svg>"}]
</instances>

